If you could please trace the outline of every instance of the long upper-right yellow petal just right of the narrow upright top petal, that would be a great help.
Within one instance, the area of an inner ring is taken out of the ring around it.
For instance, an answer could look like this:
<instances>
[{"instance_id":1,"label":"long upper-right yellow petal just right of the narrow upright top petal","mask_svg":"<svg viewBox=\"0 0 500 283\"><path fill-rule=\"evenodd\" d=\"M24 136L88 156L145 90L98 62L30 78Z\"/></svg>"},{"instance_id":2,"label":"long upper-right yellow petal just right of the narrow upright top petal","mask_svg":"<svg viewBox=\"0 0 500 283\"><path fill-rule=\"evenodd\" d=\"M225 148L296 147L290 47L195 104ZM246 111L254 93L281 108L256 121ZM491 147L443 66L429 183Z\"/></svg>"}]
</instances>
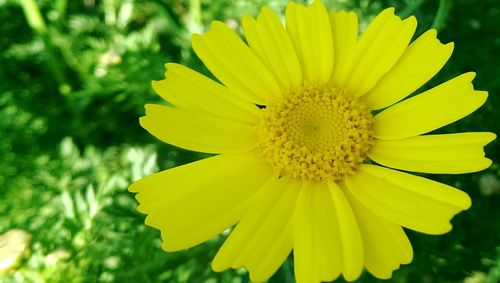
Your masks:
<instances>
[{"instance_id":1,"label":"long upper-right yellow petal just right of the narrow upright top petal","mask_svg":"<svg viewBox=\"0 0 500 283\"><path fill-rule=\"evenodd\" d=\"M372 89L403 54L417 27L415 17L401 20L394 8L382 11L361 36L351 59L352 74L345 85L356 96Z\"/></svg>"}]
</instances>

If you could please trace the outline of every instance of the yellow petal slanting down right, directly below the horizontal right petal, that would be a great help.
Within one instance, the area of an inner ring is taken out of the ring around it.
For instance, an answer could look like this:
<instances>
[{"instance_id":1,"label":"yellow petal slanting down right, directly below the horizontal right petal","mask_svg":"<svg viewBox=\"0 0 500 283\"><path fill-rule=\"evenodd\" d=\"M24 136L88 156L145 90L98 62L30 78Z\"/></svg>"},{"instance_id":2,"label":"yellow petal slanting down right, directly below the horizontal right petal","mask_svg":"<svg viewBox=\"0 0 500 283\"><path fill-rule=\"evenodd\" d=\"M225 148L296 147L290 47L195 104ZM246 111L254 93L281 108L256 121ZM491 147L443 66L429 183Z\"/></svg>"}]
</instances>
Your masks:
<instances>
[{"instance_id":1,"label":"yellow petal slanting down right, directly below the horizontal right petal","mask_svg":"<svg viewBox=\"0 0 500 283\"><path fill-rule=\"evenodd\" d=\"M346 185L372 212L427 234L450 231L451 218L471 205L469 196L453 187L374 165L361 165Z\"/></svg>"}]
</instances>

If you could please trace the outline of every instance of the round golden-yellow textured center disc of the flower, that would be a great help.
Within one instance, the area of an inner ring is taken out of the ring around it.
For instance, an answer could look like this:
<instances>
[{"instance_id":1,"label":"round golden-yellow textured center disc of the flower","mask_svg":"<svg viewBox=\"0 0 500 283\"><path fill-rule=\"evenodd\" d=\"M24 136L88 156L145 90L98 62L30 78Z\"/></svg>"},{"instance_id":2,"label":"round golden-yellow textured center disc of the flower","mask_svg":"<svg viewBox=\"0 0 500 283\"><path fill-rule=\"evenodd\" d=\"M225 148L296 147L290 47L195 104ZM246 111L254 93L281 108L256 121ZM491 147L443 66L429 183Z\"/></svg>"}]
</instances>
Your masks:
<instances>
[{"instance_id":1,"label":"round golden-yellow textured center disc of the flower","mask_svg":"<svg viewBox=\"0 0 500 283\"><path fill-rule=\"evenodd\" d=\"M373 144L370 111L343 89L303 86L262 111L259 147L280 176L342 180Z\"/></svg>"}]
</instances>

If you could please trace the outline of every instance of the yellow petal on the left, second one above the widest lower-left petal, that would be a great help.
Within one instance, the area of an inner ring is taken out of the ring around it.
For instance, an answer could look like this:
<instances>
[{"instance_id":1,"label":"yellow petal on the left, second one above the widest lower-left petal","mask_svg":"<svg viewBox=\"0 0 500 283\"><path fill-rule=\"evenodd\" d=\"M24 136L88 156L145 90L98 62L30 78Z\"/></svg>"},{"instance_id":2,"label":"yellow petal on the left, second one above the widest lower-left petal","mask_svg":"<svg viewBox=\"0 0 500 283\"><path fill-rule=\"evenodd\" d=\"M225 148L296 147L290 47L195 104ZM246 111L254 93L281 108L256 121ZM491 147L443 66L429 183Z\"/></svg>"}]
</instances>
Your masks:
<instances>
[{"instance_id":1,"label":"yellow petal on the left, second one above the widest lower-left petal","mask_svg":"<svg viewBox=\"0 0 500 283\"><path fill-rule=\"evenodd\" d=\"M166 64L166 79L153 81L153 89L180 109L256 124L260 111L227 87L179 64Z\"/></svg>"}]
</instances>

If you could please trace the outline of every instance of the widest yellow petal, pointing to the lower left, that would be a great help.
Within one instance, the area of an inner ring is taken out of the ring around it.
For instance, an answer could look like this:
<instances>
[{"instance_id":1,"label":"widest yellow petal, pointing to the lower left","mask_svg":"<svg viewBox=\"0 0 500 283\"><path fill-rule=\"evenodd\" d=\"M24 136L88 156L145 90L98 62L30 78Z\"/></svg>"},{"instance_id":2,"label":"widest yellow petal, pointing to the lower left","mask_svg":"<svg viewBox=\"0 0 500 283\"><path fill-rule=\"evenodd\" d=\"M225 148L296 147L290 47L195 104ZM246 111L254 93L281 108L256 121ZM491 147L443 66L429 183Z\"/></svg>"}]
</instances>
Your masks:
<instances>
[{"instance_id":1,"label":"widest yellow petal, pointing to the lower left","mask_svg":"<svg viewBox=\"0 0 500 283\"><path fill-rule=\"evenodd\" d=\"M145 177L129 190L138 192L146 224L161 230L163 248L178 251L239 221L272 173L255 153L218 155Z\"/></svg>"}]
</instances>

